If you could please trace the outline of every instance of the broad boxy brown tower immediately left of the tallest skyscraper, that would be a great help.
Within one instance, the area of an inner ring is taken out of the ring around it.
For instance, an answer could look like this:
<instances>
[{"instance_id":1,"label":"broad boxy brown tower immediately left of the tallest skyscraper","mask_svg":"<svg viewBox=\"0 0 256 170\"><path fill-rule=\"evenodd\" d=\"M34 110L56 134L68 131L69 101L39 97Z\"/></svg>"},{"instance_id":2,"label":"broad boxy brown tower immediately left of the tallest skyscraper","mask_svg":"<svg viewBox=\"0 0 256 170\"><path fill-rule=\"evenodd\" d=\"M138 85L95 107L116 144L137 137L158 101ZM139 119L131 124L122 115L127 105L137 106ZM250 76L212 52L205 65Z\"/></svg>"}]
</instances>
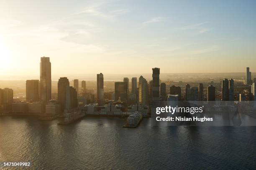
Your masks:
<instances>
[{"instance_id":1,"label":"broad boxy brown tower immediately left of the tallest skyscraper","mask_svg":"<svg viewBox=\"0 0 256 170\"><path fill-rule=\"evenodd\" d=\"M35 102L39 101L39 80L26 81L26 101Z\"/></svg>"}]
</instances>

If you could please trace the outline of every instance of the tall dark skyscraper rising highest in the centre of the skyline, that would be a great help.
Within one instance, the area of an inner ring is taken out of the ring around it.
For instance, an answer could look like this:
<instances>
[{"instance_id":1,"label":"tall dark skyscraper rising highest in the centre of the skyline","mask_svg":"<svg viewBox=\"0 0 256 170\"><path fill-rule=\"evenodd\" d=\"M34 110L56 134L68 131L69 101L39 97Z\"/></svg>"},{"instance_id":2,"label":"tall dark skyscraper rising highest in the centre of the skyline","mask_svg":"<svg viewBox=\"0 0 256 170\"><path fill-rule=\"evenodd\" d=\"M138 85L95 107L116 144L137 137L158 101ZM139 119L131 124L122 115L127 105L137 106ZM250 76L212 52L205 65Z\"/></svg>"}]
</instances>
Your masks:
<instances>
[{"instance_id":1,"label":"tall dark skyscraper rising highest in the centre of the skyline","mask_svg":"<svg viewBox=\"0 0 256 170\"><path fill-rule=\"evenodd\" d=\"M152 82L152 100L159 100L159 75L160 75L160 68L152 68L153 74L153 82Z\"/></svg>"}]
</instances>

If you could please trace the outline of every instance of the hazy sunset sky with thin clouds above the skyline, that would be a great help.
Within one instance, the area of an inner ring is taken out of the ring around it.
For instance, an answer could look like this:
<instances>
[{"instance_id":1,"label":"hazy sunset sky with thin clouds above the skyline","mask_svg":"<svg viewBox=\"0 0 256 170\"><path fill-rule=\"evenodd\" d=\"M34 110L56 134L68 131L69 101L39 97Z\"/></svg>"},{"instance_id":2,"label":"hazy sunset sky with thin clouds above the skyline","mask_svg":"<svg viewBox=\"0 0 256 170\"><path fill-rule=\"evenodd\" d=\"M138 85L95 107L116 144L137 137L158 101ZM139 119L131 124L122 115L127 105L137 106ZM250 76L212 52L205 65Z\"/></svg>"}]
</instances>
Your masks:
<instances>
[{"instance_id":1,"label":"hazy sunset sky with thin clouds above the skyline","mask_svg":"<svg viewBox=\"0 0 256 170\"><path fill-rule=\"evenodd\" d=\"M254 0L1 0L0 79L256 72Z\"/></svg>"}]
</instances>

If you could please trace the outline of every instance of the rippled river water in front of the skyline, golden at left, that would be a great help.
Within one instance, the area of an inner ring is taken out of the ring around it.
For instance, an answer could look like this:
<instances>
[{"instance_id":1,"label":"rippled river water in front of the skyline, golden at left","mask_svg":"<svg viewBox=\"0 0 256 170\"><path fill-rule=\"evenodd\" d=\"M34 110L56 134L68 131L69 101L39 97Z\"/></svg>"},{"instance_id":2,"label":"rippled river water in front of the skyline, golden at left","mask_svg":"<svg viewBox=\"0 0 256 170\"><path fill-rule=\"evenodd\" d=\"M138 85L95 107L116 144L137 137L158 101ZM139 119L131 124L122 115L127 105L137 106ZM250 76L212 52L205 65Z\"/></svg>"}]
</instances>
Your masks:
<instances>
[{"instance_id":1,"label":"rippled river water in front of the skyline, golden at left","mask_svg":"<svg viewBox=\"0 0 256 170\"><path fill-rule=\"evenodd\" d=\"M58 122L0 117L0 162L31 162L35 170L256 167L256 127L152 127L148 118L122 128L116 117Z\"/></svg>"}]
</instances>

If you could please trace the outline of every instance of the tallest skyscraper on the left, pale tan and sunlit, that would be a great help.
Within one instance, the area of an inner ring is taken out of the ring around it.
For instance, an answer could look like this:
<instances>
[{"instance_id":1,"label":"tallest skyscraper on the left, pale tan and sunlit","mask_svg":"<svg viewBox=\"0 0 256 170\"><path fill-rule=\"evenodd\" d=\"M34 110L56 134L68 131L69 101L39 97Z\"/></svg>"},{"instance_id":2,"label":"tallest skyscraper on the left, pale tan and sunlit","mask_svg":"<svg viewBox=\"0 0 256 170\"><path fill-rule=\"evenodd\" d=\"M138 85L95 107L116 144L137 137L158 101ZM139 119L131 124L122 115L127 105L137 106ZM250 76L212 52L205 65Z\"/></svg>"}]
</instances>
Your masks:
<instances>
[{"instance_id":1,"label":"tallest skyscraper on the left, pale tan and sunlit","mask_svg":"<svg viewBox=\"0 0 256 170\"><path fill-rule=\"evenodd\" d=\"M51 62L49 57L41 57L40 99L44 103L51 100Z\"/></svg>"}]
</instances>

